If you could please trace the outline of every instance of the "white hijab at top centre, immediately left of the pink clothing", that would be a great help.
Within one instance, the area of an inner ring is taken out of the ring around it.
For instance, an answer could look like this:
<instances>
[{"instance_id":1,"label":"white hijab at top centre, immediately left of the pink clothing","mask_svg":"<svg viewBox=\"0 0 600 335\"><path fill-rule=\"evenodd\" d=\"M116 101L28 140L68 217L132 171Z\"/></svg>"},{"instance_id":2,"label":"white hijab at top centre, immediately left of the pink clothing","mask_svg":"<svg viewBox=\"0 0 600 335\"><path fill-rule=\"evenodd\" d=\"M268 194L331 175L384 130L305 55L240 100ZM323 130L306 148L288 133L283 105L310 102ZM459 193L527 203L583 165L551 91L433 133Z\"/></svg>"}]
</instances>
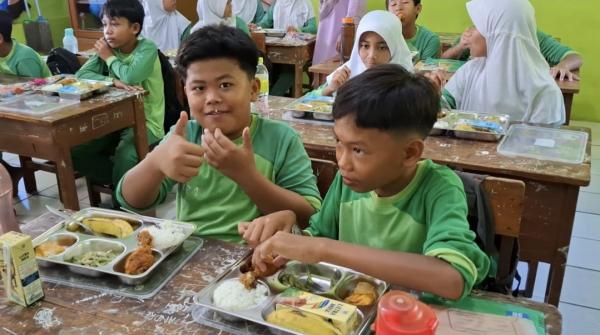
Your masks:
<instances>
[{"instance_id":1,"label":"white hijab at top centre, immediately left of the pink clothing","mask_svg":"<svg viewBox=\"0 0 600 335\"><path fill-rule=\"evenodd\" d=\"M312 0L276 0L258 25L263 28L317 33Z\"/></svg>"}]
</instances>

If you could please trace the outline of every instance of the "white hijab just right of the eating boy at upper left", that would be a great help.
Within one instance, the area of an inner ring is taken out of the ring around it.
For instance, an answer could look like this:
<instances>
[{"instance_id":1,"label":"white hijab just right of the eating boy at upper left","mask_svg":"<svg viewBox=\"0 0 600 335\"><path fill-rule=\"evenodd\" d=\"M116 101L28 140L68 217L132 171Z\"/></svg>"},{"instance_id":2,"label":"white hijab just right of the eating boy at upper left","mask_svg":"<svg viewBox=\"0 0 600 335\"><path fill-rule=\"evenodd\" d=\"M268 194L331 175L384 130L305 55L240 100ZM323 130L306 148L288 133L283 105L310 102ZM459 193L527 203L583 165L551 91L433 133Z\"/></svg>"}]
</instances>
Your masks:
<instances>
[{"instance_id":1,"label":"white hijab just right of the eating boy at upper left","mask_svg":"<svg viewBox=\"0 0 600 335\"><path fill-rule=\"evenodd\" d=\"M144 28L142 35L154 41L163 51L179 48L179 40L190 20L178 11L167 12L162 0L143 0Z\"/></svg>"}]
</instances>

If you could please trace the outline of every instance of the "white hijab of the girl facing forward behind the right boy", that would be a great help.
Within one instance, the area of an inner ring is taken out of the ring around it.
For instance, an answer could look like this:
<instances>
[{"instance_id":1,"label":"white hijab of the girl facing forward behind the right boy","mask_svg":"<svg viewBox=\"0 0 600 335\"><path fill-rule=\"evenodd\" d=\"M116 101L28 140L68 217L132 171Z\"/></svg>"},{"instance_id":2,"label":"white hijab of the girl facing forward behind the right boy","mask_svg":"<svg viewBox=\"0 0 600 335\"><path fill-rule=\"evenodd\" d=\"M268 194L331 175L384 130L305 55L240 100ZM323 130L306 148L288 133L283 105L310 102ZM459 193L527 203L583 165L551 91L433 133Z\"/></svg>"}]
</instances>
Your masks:
<instances>
[{"instance_id":1,"label":"white hijab of the girl facing forward behind the right boy","mask_svg":"<svg viewBox=\"0 0 600 335\"><path fill-rule=\"evenodd\" d=\"M338 70L347 66L350 69L350 78L352 78L367 69L365 63L360 58L358 49L360 48L361 36L369 31L377 33L388 45L390 55L392 56L389 63L398 64L407 71L413 72L412 55L404 37L402 37L402 23L396 15L386 10L374 10L363 16L356 29L350 60L338 67ZM327 76L328 83L331 82L334 74L335 71Z\"/></svg>"}]
</instances>

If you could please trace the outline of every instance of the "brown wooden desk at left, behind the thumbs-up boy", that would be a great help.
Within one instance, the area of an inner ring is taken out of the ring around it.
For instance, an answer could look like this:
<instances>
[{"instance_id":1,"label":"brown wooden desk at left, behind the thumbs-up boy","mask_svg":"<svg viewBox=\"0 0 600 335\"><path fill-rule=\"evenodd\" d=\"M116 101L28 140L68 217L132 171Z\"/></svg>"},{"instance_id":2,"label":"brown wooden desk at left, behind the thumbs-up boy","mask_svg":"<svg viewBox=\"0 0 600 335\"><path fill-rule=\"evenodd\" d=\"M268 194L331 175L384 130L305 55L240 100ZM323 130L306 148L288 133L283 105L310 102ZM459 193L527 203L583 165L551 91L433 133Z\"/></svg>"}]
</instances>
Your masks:
<instances>
[{"instance_id":1,"label":"brown wooden desk at left, behind the thumbs-up boy","mask_svg":"<svg viewBox=\"0 0 600 335\"><path fill-rule=\"evenodd\" d=\"M148 153L142 95L117 89L43 117L0 109L0 151L20 156L28 193L37 191L37 164L31 157L55 162L64 207L77 210L71 148L128 127L134 128L136 151L142 159Z\"/></svg>"}]
</instances>

